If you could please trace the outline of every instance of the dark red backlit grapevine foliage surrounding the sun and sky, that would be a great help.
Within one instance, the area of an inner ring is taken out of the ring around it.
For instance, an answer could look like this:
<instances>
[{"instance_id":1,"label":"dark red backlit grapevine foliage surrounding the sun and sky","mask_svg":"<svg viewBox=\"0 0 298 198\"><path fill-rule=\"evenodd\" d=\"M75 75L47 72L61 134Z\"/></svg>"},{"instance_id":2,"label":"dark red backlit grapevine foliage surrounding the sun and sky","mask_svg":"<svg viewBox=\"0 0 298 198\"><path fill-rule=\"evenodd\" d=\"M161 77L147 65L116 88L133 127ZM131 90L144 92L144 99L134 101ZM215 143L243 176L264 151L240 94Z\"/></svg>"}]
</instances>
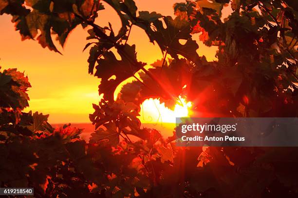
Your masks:
<instances>
[{"instance_id":1,"label":"dark red backlit grapevine foliage surrounding the sun and sky","mask_svg":"<svg viewBox=\"0 0 298 198\"><path fill-rule=\"evenodd\" d=\"M102 1L120 17L118 33L95 23ZM297 2L232 0L223 19L228 0L176 3L175 18L138 11L133 0L102 1L0 0L22 39L56 52L53 34L63 46L76 26L90 28L89 73L103 94L87 143L80 129L53 129L48 115L23 113L30 83L16 69L2 71L1 187L35 187L36 197L297 197L296 148L177 148L175 134L165 139L137 118L145 99L172 108L179 96L193 101L194 116L296 117ZM127 42L132 26L164 60L149 69L138 61ZM195 38L218 47L218 61L200 57Z\"/></svg>"}]
</instances>

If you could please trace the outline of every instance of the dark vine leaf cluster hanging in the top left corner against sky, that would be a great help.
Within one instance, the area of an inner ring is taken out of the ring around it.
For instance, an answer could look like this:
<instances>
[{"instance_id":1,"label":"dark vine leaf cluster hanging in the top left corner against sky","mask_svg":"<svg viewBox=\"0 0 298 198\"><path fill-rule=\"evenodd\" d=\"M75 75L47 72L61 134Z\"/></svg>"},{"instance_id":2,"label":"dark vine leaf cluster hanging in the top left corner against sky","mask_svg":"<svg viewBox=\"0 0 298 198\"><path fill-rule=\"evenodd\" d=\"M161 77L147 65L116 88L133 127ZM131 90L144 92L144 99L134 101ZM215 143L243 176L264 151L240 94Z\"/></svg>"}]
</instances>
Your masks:
<instances>
[{"instance_id":1,"label":"dark vine leaf cluster hanging in the top left corner against sky","mask_svg":"<svg viewBox=\"0 0 298 198\"><path fill-rule=\"evenodd\" d=\"M79 8L81 15L88 17L86 15L90 11L90 3L90 0L25 0L25 7L24 0L0 0L0 15L6 13L13 16L12 22L22 40L37 39L43 48L60 53L53 42L52 34L56 34L56 40L64 46L68 34L77 25L83 24L82 20L75 18L73 7ZM98 6L103 9L100 3Z\"/></svg>"}]
</instances>

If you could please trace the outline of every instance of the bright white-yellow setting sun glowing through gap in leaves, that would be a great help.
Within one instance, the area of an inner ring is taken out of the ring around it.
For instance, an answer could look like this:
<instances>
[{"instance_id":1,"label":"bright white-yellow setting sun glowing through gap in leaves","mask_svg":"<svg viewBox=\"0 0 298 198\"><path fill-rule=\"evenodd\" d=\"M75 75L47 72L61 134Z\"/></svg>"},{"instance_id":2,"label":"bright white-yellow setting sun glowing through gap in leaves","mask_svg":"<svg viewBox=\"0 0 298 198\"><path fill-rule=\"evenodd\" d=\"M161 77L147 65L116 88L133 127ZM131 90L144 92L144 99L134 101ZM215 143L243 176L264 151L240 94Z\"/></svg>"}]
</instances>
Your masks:
<instances>
[{"instance_id":1,"label":"bright white-yellow setting sun glowing through gap in leaves","mask_svg":"<svg viewBox=\"0 0 298 198\"><path fill-rule=\"evenodd\" d=\"M174 110L160 103L159 99L146 99L141 104L139 119L142 123L175 123L176 117L188 117L191 115L192 102L179 96Z\"/></svg>"}]
</instances>

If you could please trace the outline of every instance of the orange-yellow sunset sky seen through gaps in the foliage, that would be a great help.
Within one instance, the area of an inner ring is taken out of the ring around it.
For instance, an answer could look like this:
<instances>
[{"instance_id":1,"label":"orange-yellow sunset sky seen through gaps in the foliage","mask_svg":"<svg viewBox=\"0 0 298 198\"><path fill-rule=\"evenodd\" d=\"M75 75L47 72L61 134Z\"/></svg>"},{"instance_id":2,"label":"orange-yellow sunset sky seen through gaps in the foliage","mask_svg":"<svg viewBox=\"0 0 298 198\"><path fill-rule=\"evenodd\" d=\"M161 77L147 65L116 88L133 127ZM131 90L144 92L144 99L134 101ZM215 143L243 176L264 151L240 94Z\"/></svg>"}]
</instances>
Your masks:
<instances>
[{"instance_id":1,"label":"orange-yellow sunset sky seen through gaps in the foliage","mask_svg":"<svg viewBox=\"0 0 298 198\"><path fill-rule=\"evenodd\" d=\"M166 16L173 16L172 5L181 1L135 0L139 11L156 11ZM107 26L110 21L117 32L119 18L109 6L105 7L106 10L100 11L97 23ZM17 67L28 75L32 88L28 92L30 108L27 110L50 114L51 123L89 122L92 103L98 102L99 79L88 74L89 50L82 52L87 43L88 28L78 27L71 33L66 47L60 49L62 56L43 49L36 41L21 41L10 20L11 16L0 16L0 66L2 69ZM158 46L151 44L147 35L137 27L133 27L128 43L136 44L139 61L150 64L162 57ZM208 48L202 43L199 46L200 55L215 60L216 48Z\"/></svg>"}]
</instances>

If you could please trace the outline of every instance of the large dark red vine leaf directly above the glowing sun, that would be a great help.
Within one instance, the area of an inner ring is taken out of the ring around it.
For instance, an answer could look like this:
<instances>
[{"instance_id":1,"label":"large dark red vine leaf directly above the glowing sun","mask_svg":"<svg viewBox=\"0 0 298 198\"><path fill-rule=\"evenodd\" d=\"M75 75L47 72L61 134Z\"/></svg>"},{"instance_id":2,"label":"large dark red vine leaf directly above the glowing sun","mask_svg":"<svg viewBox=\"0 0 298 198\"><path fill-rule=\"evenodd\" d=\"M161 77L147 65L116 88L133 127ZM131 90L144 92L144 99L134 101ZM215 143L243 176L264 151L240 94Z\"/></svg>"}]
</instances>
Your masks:
<instances>
[{"instance_id":1,"label":"large dark red vine leaf directly above the glowing sun","mask_svg":"<svg viewBox=\"0 0 298 198\"><path fill-rule=\"evenodd\" d=\"M157 78L153 80L147 74L139 73L146 86L139 82L131 82L127 86L123 86L121 98L135 101L137 104L141 104L148 98L159 99L160 102L165 102L168 108L173 109L177 103L176 99L183 95L183 87L189 85L191 73L186 67L186 60L172 60L169 66L162 68L159 65L150 68L149 72ZM132 87L133 91L130 90ZM154 87L154 90L150 87Z\"/></svg>"}]
</instances>

